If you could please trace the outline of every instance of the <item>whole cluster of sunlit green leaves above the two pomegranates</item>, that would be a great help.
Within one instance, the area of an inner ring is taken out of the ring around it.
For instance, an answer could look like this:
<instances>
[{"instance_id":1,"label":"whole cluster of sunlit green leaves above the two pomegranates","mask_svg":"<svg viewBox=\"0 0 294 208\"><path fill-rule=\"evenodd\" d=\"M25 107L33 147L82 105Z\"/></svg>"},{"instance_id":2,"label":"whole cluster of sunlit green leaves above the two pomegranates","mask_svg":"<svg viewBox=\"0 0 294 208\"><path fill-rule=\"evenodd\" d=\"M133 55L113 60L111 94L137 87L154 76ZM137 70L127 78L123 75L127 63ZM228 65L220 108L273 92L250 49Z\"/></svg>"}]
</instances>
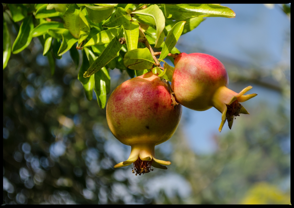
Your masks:
<instances>
[{"instance_id":1,"label":"whole cluster of sunlit green leaves above the two pomegranates","mask_svg":"<svg viewBox=\"0 0 294 208\"><path fill-rule=\"evenodd\" d=\"M67 51L76 68L82 55L78 80L88 100L95 91L101 109L110 92L109 68L126 70L130 77L152 70L171 81L173 67L166 63L164 68L160 67L159 62L166 57L173 61L168 55L180 53L175 47L180 36L195 29L203 17L235 17L230 8L218 4L7 4L4 7L3 69L11 52L23 51L32 38L38 37L52 75L56 59ZM18 32L12 47L7 27L10 23ZM126 44L121 44L120 38ZM153 48L161 51L159 59ZM78 53L79 49L82 53Z\"/></svg>"}]
</instances>

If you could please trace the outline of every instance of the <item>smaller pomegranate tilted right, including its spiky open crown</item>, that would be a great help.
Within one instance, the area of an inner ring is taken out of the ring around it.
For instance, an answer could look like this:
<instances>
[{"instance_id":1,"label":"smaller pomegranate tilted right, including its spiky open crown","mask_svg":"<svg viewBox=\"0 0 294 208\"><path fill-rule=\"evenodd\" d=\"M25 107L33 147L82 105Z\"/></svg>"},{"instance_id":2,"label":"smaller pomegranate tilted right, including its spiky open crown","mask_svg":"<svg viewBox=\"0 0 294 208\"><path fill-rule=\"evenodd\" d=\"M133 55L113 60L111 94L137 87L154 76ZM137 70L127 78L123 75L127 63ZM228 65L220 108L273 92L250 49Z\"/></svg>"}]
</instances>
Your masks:
<instances>
[{"instance_id":1,"label":"smaller pomegranate tilted right, including its spiky open crown","mask_svg":"<svg viewBox=\"0 0 294 208\"><path fill-rule=\"evenodd\" d=\"M228 89L229 78L224 65L215 57L203 53L180 53L175 59L172 90L176 100L193 110L215 107L222 113L219 131L225 120L232 128L233 120L240 113L249 114L240 104L257 94L244 95L252 87L240 93Z\"/></svg>"}]
</instances>

